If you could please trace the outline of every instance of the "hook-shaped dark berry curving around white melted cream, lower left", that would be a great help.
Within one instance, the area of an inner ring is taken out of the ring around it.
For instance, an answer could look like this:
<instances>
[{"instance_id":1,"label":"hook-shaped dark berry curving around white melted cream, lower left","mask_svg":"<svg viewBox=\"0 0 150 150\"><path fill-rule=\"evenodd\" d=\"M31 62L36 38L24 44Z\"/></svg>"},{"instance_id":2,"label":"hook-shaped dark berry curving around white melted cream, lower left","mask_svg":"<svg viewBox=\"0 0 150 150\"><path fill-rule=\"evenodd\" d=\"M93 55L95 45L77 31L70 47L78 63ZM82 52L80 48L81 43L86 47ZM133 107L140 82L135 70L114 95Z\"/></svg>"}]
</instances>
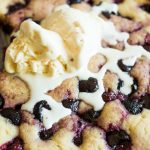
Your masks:
<instances>
[{"instance_id":1,"label":"hook-shaped dark berry curving around white melted cream, lower left","mask_svg":"<svg viewBox=\"0 0 150 150\"><path fill-rule=\"evenodd\" d=\"M45 100L39 101L35 104L35 106L33 108L33 114L35 116L35 119L38 119L40 122L43 121L43 117L41 114L42 108L51 110L50 106L48 105L47 101L45 101Z\"/></svg>"}]
</instances>

